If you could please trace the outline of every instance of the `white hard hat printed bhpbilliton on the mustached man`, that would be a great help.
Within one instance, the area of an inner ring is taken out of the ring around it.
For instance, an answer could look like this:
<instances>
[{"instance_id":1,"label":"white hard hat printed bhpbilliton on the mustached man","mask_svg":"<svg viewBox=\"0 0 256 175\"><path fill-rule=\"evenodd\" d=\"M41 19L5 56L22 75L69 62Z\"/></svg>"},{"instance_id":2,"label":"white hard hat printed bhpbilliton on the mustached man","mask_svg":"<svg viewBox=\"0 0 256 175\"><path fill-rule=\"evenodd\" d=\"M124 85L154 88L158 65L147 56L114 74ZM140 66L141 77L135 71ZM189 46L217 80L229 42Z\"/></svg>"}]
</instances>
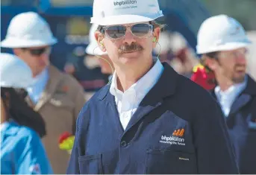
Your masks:
<instances>
[{"instance_id":1,"label":"white hard hat printed bhpbilliton on the mustached man","mask_svg":"<svg viewBox=\"0 0 256 175\"><path fill-rule=\"evenodd\" d=\"M91 23L122 25L149 22L163 16L157 0L94 0Z\"/></svg>"}]
</instances>

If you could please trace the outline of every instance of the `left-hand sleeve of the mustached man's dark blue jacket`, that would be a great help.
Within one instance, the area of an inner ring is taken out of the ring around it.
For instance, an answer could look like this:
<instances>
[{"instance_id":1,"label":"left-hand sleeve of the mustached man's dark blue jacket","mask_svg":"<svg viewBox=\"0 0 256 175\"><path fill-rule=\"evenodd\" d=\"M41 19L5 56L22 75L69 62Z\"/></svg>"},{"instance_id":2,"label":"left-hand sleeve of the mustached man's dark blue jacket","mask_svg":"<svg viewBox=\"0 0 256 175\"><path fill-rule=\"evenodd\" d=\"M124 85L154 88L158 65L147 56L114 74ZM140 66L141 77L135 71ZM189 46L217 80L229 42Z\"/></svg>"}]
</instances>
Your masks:
<instances>
[{"instance_id":1,"label":"left-hand sleeve of the mustached man's dark blue jacket","mask_svg":"<svg viewBox=\"0 0 256 175\"><path fill-rule=\"evenodd\" d=\"M75 143L72 148L72 153L69 159L69 165L66 174L80 174L78 157L81 153L85 153L83 145L86 141L87 128L90 122L90 109L89 104L86 104L78 115L75 130Z\"/></svg>"}]
</instances>

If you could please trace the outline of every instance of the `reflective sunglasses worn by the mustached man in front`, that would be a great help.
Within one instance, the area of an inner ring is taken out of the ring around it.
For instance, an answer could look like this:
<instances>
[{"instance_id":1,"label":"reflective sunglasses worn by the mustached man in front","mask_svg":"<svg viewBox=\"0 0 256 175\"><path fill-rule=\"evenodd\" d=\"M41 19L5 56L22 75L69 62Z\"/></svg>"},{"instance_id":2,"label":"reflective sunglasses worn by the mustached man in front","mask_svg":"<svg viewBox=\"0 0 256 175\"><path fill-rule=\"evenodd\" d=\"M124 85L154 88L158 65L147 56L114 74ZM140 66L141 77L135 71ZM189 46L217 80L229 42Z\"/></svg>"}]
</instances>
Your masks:
<instances>
[{"instance_id":1,"label":"reflective sunglasses worn by the mustached man in front","mask_svg":"<svg viewBox=\"0 0 256 175\"><path fill-rule=\"evenodd\" d=\"M125 36L127 28L131 28L131 33L134 36L143 38L150 36L152 31L154 31L154 25L140 23L134 25L110 25L110 26L102 26L99 28L99 31L102 34L105 34L110 39L120 39Z\"/></svg>"}]
</instances>

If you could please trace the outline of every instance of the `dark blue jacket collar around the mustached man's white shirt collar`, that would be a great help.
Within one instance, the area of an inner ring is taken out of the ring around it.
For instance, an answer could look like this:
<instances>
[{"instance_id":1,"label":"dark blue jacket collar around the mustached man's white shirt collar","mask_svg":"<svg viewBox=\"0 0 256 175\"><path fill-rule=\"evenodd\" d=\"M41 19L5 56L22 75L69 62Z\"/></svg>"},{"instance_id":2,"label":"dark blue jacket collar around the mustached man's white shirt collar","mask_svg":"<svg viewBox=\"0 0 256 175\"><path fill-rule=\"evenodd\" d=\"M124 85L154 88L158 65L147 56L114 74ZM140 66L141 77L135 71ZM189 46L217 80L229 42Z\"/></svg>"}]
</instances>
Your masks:
<instances>
[{"instance_id":1,"label":"dark blue jacket collar around the mustached man's white shirt collar","mask_svg":"<svg viewBox=\"0 0 256 175\"><path fill-rule=\"evenodd\" d=\"M163 64L163 73L161 74L155 86L149 91L149 93L145 96L145 98L143 98L143 101L141 102L141 104L146 105L148 104L149 101L151 103L153 101L157 102L175 93L175 89L177 86L178 73L176 73L172 69L172 67L169 66L167 63L162 63L162 64ZM110 85L104 86L104 88L98 95L98 98L100 101L106 98L107 94L110 94L109 89L110 89Z\"/></svg>"}]
</instances>

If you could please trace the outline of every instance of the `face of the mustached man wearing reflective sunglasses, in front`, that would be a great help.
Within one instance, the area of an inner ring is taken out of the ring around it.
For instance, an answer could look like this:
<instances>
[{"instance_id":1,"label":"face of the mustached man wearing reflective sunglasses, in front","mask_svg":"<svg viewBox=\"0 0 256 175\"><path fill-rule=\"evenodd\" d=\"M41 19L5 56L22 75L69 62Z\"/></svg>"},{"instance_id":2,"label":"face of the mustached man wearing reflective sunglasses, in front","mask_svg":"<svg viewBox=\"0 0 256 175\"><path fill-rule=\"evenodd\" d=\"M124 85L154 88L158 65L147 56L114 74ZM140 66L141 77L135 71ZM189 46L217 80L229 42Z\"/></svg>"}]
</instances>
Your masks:
<instances>
[{"instance_id":1,"label":"face of the mustached man wearing reflective sunglasses, in front","mask_svg":"<svg viewBox=\"0 0 256 175\"><path fill-rule=\"evenodd\" d=\"M103 42L102 51L107 51L113 64L118 66L140 65L149 60L156 45L152 39L158 39L160 34L160 28L154 28L149 22L104 26L103 31L104 35L96 32L96 39Z\"/></svg>"}]
</instances>

